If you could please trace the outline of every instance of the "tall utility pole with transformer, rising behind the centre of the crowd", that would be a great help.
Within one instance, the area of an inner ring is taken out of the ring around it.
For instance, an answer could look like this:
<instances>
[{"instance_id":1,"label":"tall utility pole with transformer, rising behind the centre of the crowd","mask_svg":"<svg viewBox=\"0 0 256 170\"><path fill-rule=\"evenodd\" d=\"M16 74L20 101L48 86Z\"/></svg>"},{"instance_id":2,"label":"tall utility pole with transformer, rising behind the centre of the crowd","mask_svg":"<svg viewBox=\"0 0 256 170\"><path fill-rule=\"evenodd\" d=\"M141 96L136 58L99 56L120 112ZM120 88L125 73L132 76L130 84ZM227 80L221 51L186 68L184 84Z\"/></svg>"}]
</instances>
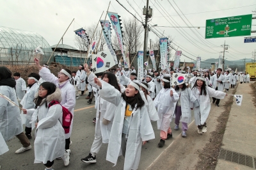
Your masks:
<instances>
[{"instance_id":1,"label":"tall utility pole with transformer, rising behind the centre of the crowd","mask_svg":"<svg viewBox=\"0 0 256 170\"><path fill-rule=\"evenodd\" d=\"M143 15L146 15L145 17L145 24L144 24L144 48L143 48L143 61L146 61L147 58L147 34L148 34L148 19L152 17L152 8L148 8L148 0L147 0L147 7L144 6L143 8Z\"/></svg>"}]
</instances>

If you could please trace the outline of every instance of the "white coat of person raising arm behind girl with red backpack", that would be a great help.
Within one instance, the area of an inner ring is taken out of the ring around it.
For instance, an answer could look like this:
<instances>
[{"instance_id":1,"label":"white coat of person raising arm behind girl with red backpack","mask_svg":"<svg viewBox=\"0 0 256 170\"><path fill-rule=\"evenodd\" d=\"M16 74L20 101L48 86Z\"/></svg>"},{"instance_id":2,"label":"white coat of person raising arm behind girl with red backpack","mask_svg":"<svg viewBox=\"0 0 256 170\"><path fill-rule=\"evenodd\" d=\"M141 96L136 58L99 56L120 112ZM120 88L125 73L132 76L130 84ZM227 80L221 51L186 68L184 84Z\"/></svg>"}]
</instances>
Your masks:
<instances>
[{"instance_id":1,"label":"white coat of person raising arm behind girl with red backpack","mask_svg":"<svg viewBox=\"0 0 256 170\"><path fill-rule=\"evenodd\" d=\"M59 84L58 78L55 77L54 74L50 72L48 68L42 68L39 71L39 75L48 82L54 83L57 87L61 89L61 105L66 107L68 111L70 111L73 115L73 119L71 121L70 130L68 134L65 134L66 139L68 139L72 132L73 120L74 120L74 108L76 106L76 90L72 84L67 80L63 84Z\"/></svg>"}]
</instances>

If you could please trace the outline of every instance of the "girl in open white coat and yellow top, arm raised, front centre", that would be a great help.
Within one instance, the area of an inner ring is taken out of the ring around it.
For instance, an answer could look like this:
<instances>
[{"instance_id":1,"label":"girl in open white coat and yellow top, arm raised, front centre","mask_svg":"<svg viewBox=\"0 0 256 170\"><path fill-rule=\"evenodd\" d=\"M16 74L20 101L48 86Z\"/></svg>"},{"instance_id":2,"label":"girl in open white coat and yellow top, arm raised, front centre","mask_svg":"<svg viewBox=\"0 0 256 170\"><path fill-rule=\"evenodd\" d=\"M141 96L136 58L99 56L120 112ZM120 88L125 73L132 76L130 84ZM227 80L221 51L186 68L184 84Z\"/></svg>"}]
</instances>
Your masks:
<instances>
[{"instance_id":1,"label":"girl in open white coat and yellow top, arm raised, front centre","mask_svg":"<svg viewBox=\"0 0 256 170\"><path fill-rule=\"evenodd\" d=\"M116 165L122 151L124 169L138 169L142 144L155 138L140 84L131 81L125 92L120 93L107 82L97 78L94 81L101 88L100 97L116 105L106 159Z\"/></svg>"}]
</instances>

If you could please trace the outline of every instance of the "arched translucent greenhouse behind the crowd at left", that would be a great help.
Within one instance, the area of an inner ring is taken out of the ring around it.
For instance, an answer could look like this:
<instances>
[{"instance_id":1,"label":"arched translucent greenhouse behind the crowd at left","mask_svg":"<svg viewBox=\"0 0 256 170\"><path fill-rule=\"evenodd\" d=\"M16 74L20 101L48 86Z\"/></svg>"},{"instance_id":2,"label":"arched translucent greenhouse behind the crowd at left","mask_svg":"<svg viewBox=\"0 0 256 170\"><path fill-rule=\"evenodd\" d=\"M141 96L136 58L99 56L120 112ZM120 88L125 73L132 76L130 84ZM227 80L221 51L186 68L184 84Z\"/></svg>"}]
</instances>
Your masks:
<instances>
[{"instance_id":1,"label":"arched translucent greenhouse behind the crowd at left","mask_svg":"<svg viewBox=\"0 0 256 170\"><path fill-rule=\"evenodd\" d=\"M47 62L52 49L44 37L36 32L0 26L0 64L32 64L35 48L39 45L45 54L41 61Z\"/></svg>"}]
</instances>

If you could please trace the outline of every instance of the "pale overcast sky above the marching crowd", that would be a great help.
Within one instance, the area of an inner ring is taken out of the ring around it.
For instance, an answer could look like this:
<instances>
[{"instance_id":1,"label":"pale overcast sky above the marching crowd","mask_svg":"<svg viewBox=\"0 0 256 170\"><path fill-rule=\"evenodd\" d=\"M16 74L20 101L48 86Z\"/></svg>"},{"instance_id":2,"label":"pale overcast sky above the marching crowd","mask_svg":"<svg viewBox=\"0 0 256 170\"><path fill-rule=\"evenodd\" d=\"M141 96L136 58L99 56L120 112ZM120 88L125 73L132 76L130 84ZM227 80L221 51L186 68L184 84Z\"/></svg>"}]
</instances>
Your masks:
<instances>
[{"instance_id":1,"label":"pale overcast sky above the marching crowd","mask_svg":"<svg viewBox=\"0 0 256 170\"><path fill-rule=\"evenodd\" d=\"M139 20L145 20L145 15L142 15L142 8L146 5L146 0L118 1L129 12L136 15ZM74 30L97 22L103 11L104 14L101 19L104 20L109 1L0 0L0 3L0 26L37 32L50 45L57 44L60 41L70 22L75 19L63 37L63 43L76 47ZM197 56L200 56L202 60L218 58L223 55L220 52L223 51L221 45L224 42L230 46L228 52L225 53L225 59L232 61L252 58L256 43L244 43L244 36L211 39L205 39L204 37L205 20L253 14L252 11L256 11L255 0L149 0L149 6L154 11L149 24L151 26L157 24L157 27L152 29L159 35L161 33L162 36L171 36L173 39L172 46L175 49L182 50L182 54L189 58L196 59ZM121 19L132 17L114 0L111 1L109 12L118 13ZM253 15L253 17L256 17L256 15ZM189 29L186 24L196 28ZM252 30L256 30L256 19L252 20L252 25L255 25L252 26ZM197 27L200 27L200 29ZM256 36L256 33L252 33L251 36ZM149 32L148 39L156 40L156 37L152 31ZM143 47L141 50L143 50ZM181 61L183 60L191 61L191 59L182 56Z\"/></svg>"}]
</instances>

